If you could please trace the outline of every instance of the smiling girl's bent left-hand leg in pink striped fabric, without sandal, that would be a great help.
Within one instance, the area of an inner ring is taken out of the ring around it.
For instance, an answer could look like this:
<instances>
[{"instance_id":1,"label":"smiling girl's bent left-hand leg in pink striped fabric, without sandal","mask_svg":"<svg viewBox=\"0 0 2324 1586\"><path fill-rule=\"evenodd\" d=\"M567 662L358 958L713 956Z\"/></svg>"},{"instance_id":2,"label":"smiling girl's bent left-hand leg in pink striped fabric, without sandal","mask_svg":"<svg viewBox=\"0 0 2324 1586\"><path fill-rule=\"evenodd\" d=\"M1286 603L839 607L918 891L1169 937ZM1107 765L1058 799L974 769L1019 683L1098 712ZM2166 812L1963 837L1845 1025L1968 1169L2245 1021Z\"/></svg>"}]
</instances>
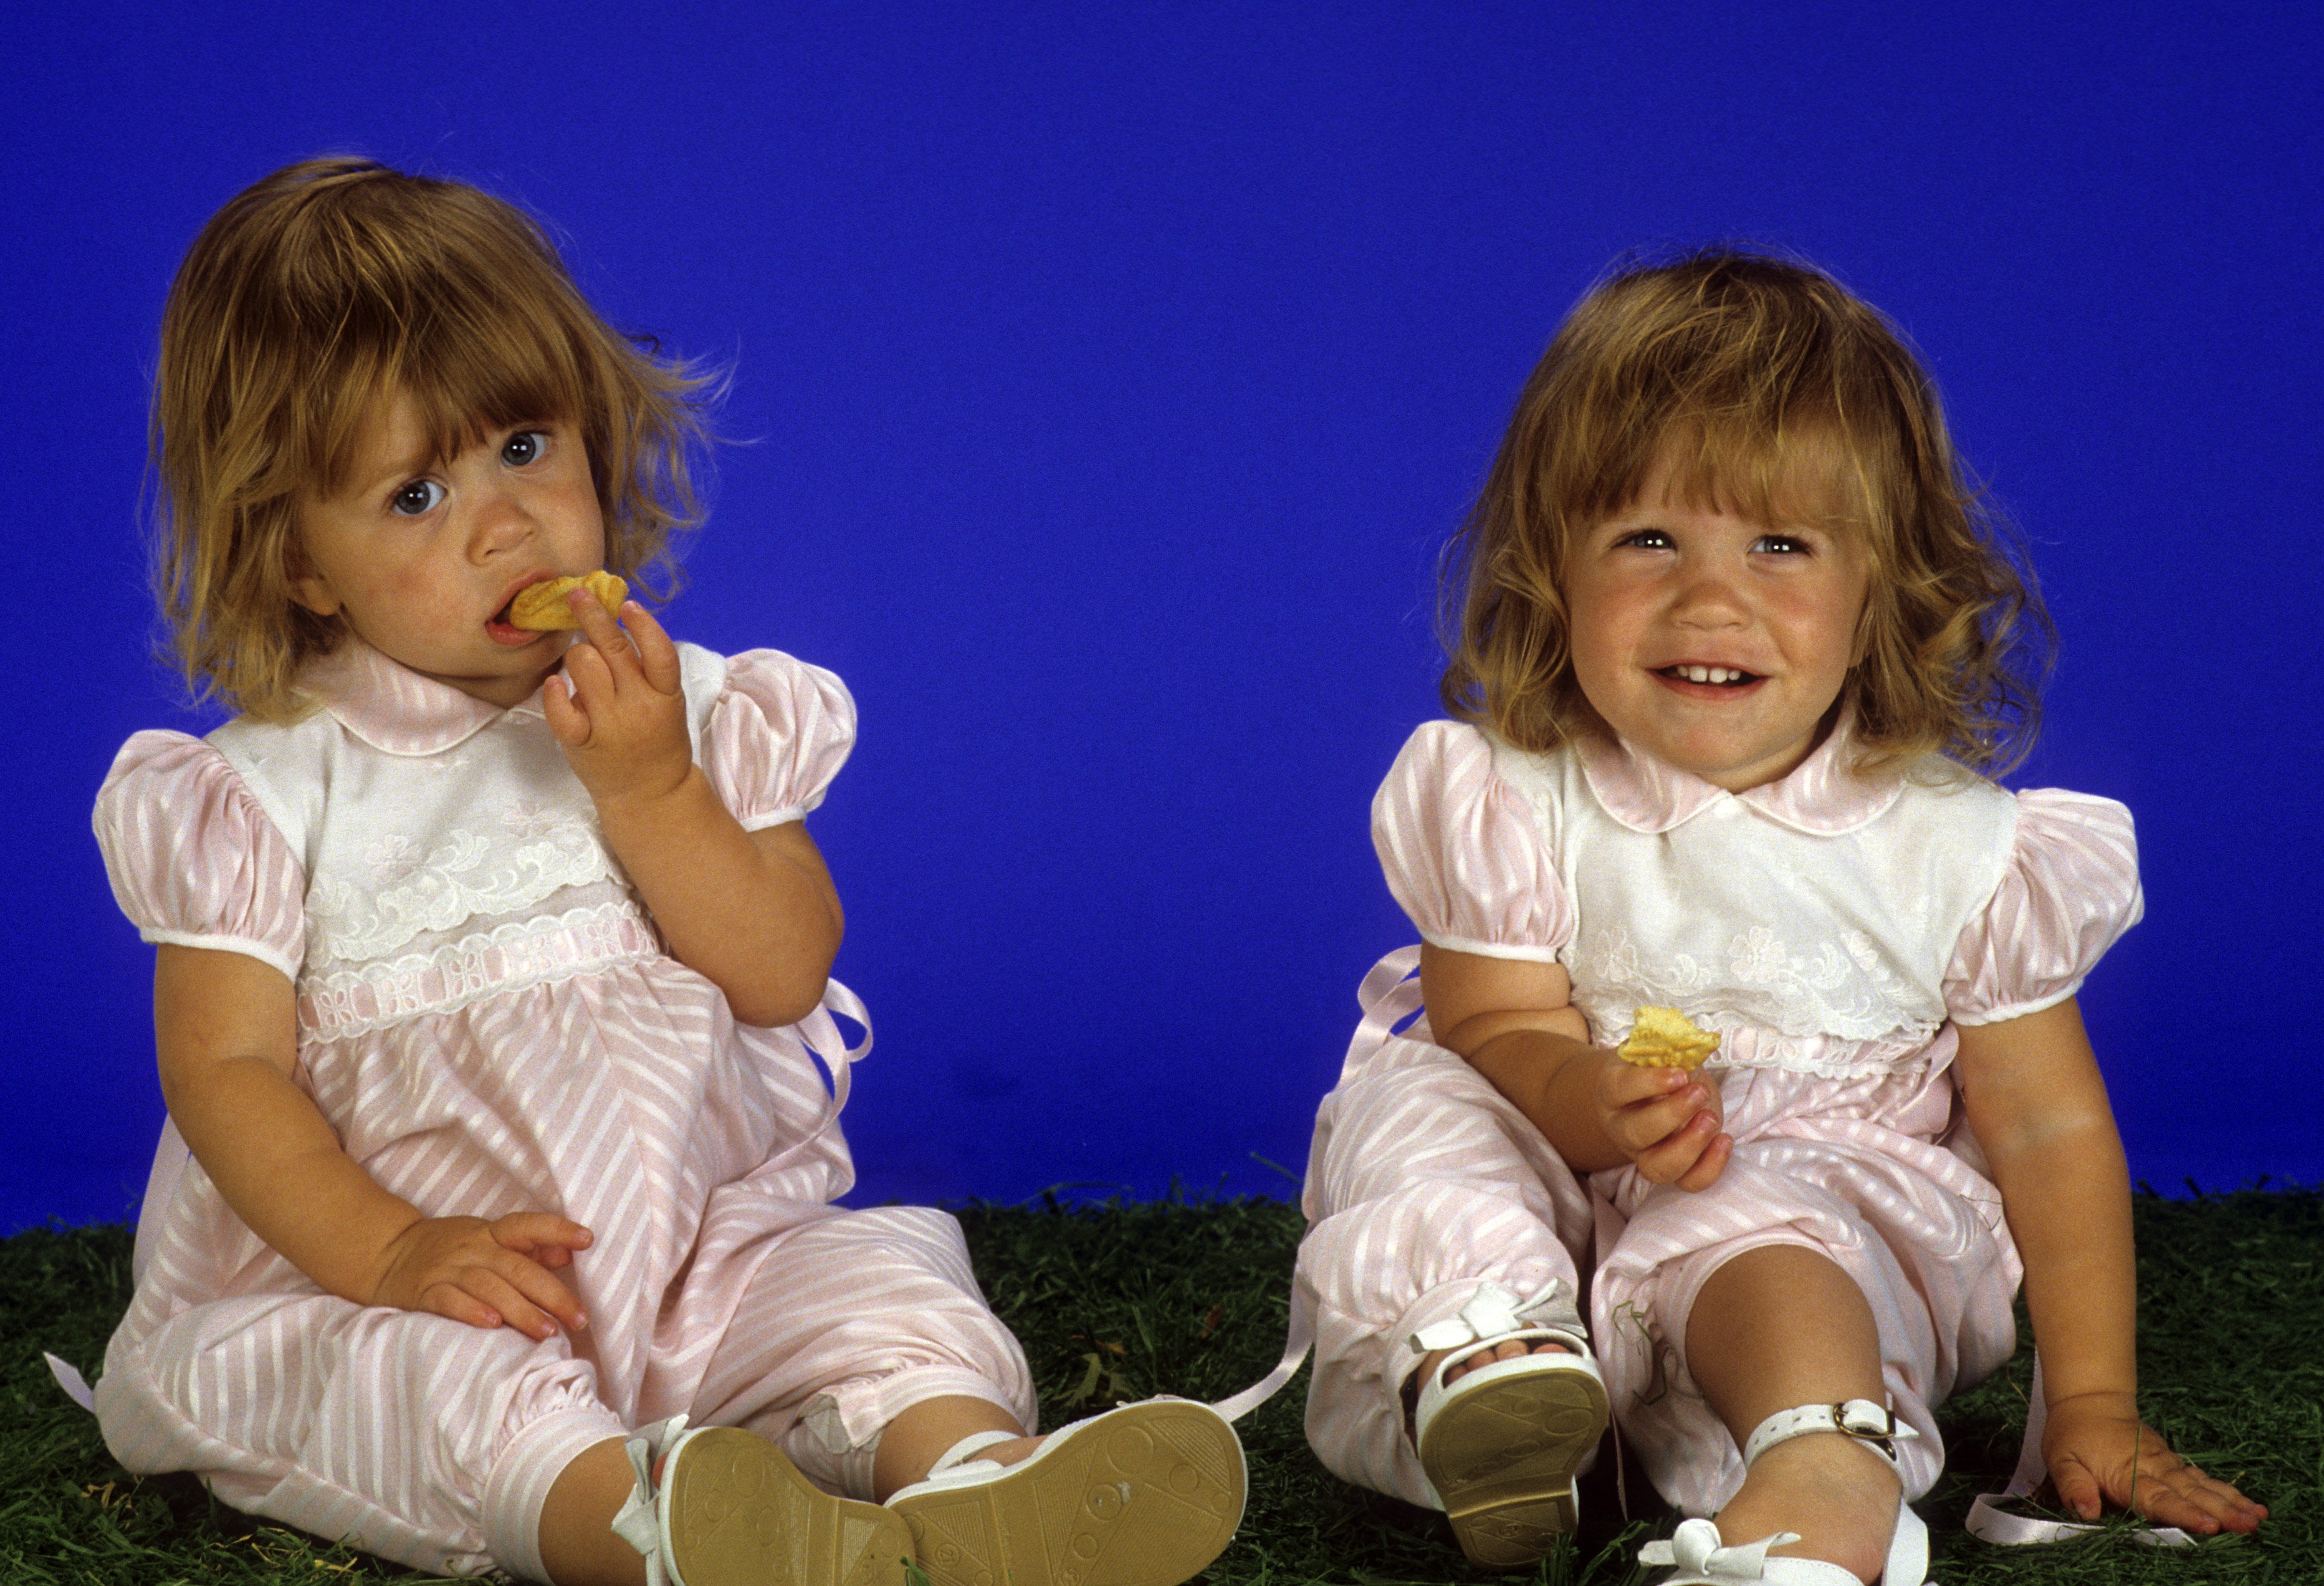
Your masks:
<instances>
[{"instance_id":1,"label":"smiling girl's bent left-hand leg in pink striped fabric, without sandal","mask_svg":"<svg viewBox=\"0 0 2324 1586\"><path fill-rule=\"evenodd\" d=\"M1334 1474L1429 1505L1408 1421L1425 1363L1411 1337L1457 1316L1483 1281L1529 1298L1555 1279L1571 1300L1590 1200L1457 1053L1390 1042L1325 1100L1308 1216L1297 1277L1315 1307L1308 1442Z\"/></svg>"}]
</instances>

